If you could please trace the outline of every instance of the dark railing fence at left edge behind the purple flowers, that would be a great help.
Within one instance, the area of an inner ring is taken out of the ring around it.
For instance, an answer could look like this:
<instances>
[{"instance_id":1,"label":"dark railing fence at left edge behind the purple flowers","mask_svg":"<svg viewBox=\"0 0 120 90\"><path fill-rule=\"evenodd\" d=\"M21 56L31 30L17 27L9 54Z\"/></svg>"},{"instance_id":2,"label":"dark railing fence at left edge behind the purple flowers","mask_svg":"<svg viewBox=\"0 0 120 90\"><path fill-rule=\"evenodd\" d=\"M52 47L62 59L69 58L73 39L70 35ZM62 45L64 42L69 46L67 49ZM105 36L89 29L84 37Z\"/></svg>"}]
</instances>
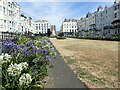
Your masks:
<instances>
[{"instance_id":1,"label":"dark railing fence at left edge behind the purple flowers","mask_svg":"<svg viewBox=\"0 0 120 90\"><path fill-rule=\"evenodd\" d=\"M16 33L11 32L0 32L0 41L3 40L13 40L16 36Z\"/></svg>"}]
</instances>

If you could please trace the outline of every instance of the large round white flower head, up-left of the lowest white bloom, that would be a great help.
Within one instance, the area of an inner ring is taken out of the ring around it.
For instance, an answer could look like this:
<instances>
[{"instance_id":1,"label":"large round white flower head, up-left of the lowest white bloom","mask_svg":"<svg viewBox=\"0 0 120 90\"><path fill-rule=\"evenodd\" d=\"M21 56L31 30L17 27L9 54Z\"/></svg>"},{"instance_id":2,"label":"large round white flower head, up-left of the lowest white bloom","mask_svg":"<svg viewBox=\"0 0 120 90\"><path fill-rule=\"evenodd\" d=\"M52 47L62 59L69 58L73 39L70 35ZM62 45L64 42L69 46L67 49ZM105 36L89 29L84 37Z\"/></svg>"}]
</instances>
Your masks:
<instances>
[{"instance_id":1,"label":"large round white flower head, up-left of the lowest white bloom","mask_svg":"<svg viewBox=\"0 0 120 90\"><path fill-rule=\"evenodd\" d=\"M23 70L22 66L20 64L10 64L9 68L7 70L8 74L11 76L16 76L19 75L21 73L21 71Z\"/></svg>"}]
</instances>

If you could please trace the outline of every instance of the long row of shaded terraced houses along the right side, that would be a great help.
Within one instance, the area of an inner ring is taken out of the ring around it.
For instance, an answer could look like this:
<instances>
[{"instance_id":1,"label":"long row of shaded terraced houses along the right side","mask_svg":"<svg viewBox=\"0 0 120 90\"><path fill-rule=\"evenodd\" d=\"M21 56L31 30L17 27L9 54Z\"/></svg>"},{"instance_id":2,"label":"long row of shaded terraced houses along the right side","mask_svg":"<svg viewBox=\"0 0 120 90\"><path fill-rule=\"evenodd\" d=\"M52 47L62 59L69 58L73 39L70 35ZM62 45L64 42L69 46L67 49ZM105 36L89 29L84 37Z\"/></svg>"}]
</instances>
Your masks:
<instances>
[{"instance_id":1,"label":"long row of shaded terraced houses along the right side","mask_svg":"<svg viewBox=\"0 0 120 90\"><path fill-rule=\"evenodd\" d=\"M99 6L94 13L78 20L79 35L119 34L120 33L120 0L111 7Z\"/></svg>"}]
</instances>

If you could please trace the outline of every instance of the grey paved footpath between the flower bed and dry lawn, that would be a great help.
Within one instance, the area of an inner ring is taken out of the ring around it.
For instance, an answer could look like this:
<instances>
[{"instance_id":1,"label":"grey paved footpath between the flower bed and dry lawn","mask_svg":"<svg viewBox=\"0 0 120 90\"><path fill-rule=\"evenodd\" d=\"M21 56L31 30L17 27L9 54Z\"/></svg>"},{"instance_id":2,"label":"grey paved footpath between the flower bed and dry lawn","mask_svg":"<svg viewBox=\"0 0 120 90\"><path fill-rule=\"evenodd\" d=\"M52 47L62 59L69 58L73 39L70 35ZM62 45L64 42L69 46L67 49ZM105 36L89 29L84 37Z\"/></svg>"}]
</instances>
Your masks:
<instances>
[{"instance_id":1,"label":"grey paved footpath between the flower bed and dry lawn","mask_svg":"<svg viewBox=\"0 0 120 90\"><path fill-rule=\"evenodd\" d=\"M82 83L70 67L60 56L60 53L56 50L57 57L52 60L50 64L54 64L53 68L49 69L49 78L45 88L88 88Z\"/></svg>"}]
</instances>

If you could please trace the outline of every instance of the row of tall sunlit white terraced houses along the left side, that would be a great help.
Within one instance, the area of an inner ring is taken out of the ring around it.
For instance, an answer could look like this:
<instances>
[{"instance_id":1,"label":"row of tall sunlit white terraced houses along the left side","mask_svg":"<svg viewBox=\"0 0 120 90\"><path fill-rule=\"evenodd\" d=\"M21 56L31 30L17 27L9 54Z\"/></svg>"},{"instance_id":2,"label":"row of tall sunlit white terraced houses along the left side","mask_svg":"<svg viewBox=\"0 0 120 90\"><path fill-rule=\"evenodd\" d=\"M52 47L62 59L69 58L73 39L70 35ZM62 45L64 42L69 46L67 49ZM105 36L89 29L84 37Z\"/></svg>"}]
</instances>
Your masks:
<instances>
[{"instance_id":1,"label":"row of tall sunlit white terraced houses along the left side","mask_svg":"<svg viewBox=\"0 0 120 90\"><path fill-rule=\"evenodd\" d=\"M20 14L20 7L14 0L0 0L0 32L34 33L34 30L34 21Z\"/></svg>"}]
</instances>

